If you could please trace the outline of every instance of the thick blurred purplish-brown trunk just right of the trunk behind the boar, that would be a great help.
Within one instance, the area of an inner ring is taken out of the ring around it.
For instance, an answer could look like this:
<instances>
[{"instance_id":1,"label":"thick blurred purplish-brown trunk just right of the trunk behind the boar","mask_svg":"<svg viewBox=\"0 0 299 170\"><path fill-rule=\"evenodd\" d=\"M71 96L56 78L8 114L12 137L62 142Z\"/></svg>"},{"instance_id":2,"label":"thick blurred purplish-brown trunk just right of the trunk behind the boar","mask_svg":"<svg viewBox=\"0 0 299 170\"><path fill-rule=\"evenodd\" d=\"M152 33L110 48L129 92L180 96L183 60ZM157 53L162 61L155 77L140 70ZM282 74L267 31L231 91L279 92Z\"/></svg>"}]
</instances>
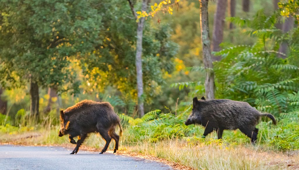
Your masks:
<instances>
[{"instance_id":1,"label":"thick blurred purplish-brown trunk just right of the trunk behind the boar","mask_svg":"<svg viewBox=\"0 0 299 170\"><path fill-rule=\"evenodd\" d=\"M227 0L218 0L217 9L214 15L214 28L213 28L213 51L220 51L219 46L223 40L223 29L224 29L224 19L226 11ZM213 61L219 61L220 56L213 56Z\"/></svg>"}]
</instances>

